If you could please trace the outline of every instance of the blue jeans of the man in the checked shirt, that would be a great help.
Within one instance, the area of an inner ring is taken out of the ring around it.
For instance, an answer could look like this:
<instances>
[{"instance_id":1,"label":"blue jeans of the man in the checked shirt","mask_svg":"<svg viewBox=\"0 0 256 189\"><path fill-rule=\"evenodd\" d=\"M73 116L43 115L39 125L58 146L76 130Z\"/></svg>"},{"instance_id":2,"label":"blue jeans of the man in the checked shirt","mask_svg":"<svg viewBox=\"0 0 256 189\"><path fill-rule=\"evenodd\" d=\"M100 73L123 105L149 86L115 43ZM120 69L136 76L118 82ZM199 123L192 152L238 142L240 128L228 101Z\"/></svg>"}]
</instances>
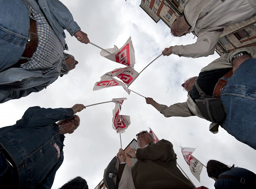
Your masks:
<instances>
[{"instance_id":1,"label":"blue jeans of the man in the checked shirt","mask_svg":"<svg viewBox=\"0 0 256 189\"><path fill-rule=\"evenodd\" d=\"M28 41L29 11L22 0L0 0L0 72L19 61Z\"/></svg>"}]
</instances>

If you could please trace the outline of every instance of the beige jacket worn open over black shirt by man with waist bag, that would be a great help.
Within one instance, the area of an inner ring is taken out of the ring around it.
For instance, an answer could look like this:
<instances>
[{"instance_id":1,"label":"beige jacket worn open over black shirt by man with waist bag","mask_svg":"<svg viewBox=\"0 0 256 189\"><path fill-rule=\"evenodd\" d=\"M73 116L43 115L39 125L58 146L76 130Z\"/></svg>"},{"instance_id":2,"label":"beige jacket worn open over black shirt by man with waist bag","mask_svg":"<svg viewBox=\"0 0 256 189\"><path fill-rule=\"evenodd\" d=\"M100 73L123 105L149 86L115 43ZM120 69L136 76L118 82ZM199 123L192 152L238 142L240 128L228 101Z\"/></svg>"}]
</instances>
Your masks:
<instances>
[{"instance_id":1,"label":"beige jacket worn open over black shirt by man with waist bag","mask_svg":"<svg viewBox=\"0 0 256 189\"><path fill-rule=\"evenodd\" d=\"M240 51L247 51L248 54L250 54L253 58L256 58L256 49L253 47L247 47L247 48L241 48L234 50L230 53L227 53L223 55L222 57L214 60L207 66L201 69L201 72L204 71L210 71L210 70L217 70L217 69L222 69L222 68L231 68L233 67L231 62L231 59L234 54ZM180 102L171 105L170 107L161 104L160 105L160 113L164 115L164 117L189 117L189 116L197 116L204 118L200 112L200 110L197 108L195 102L191 99L188 93L188 99L186 102ZM216 123L211 123L209 130L212 133L217 133L218 132L218 125Z\"/></svg>"}]
</instances>

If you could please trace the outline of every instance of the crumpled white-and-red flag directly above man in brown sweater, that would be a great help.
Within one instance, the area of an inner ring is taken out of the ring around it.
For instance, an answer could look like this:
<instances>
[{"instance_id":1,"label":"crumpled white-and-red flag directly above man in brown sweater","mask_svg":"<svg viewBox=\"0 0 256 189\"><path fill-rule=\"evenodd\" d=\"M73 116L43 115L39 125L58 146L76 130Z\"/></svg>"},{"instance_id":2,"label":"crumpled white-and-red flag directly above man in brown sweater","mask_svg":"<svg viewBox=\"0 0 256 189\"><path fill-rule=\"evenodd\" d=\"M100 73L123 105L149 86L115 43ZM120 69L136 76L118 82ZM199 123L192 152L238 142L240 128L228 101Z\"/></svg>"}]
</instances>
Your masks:
<instances>
[{"instance_id":1,"label":"crumpled white-and-red flag directly above man in brown sweater","mask_svg":"<svg viewBox=\"0 0 256 189\"><path fill-rule=\"evenodd\" d=\"M130 116L119 115L124 100L126 100L126 98L112 99L112 102L116 103L115 109L113 110L112 127L117 133L124 132L124 130L131 124Z\"/></svg>"}]
</instances>

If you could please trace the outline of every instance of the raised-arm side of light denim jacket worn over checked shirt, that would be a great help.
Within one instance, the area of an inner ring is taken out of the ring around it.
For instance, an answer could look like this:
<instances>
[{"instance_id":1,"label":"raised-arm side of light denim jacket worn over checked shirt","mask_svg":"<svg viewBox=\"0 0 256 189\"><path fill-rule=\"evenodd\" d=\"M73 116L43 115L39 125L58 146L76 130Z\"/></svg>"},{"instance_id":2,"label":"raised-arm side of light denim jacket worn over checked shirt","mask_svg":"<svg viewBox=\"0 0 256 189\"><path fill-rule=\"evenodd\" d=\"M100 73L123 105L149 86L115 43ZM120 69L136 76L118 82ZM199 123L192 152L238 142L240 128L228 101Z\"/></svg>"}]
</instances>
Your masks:
<instances>
[{"instance_id":1,"label":"raised-arm side of light denim jacket worn over checked shirt","mask_svg":"<svg viewBox=\"0 0 256 189\"><path fill-rule=\"evenodd\" d=\"M38 3L36 0L27 1L37 12L43 11L55 34L59 37L63 47L68 49L65 42L66 35L64 29L66 29L71 36L81 29L74 21L68 8L59 0L37 0Z\"/></svg>"}]
</instances>

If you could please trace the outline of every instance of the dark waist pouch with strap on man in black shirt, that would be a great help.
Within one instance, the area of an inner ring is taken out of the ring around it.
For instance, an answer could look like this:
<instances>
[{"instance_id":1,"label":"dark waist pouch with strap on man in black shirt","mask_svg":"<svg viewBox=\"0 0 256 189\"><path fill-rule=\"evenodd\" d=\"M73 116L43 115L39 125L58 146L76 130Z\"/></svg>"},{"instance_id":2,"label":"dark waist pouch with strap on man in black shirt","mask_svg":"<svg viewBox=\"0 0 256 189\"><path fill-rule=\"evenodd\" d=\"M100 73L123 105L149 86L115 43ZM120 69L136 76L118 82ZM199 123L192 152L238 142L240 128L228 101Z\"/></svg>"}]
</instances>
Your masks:
<instances>
[{"instance_id":1,"label":"dark waist pouch with strap on man in black shirt","mask_svg":"<svg viewBox=\"0 0 256 189\"><path fill-rule=\"evenodd\" d=\"M206 95L197 83L195 83L195 86L201 95L199 99L196 99L195 103L203 117L212 123L224 121L226 118L226 112L220 98L213 98L210 95Z\"/></svg>"}]
</instances>

